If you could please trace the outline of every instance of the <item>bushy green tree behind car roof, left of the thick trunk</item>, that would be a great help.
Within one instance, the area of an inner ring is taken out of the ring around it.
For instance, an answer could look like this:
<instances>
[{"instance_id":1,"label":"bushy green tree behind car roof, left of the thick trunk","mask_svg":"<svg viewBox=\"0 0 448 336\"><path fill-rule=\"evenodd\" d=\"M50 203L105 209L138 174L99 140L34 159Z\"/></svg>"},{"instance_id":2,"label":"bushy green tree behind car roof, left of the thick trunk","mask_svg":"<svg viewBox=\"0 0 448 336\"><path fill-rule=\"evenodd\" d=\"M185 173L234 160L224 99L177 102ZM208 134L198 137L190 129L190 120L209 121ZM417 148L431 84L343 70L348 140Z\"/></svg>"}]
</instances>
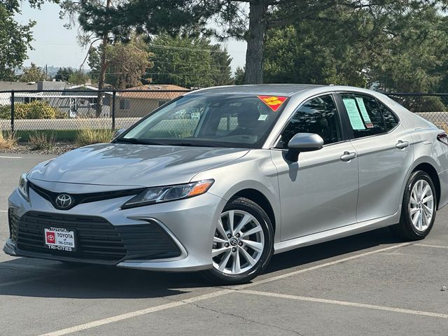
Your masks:
<instances>
[{"instance_id":1,"label":"bushy green tree behind car roof, left of the thick trunk","mask_svg":"<svg viewBox=\"0 0 448 336\"><path fill-rule=\"evenodd\" d=\"M209 38L160 34L149 45L154 53L151 83L209 87L232 83L227 51Z\"/></svg>"}]
</instances>

